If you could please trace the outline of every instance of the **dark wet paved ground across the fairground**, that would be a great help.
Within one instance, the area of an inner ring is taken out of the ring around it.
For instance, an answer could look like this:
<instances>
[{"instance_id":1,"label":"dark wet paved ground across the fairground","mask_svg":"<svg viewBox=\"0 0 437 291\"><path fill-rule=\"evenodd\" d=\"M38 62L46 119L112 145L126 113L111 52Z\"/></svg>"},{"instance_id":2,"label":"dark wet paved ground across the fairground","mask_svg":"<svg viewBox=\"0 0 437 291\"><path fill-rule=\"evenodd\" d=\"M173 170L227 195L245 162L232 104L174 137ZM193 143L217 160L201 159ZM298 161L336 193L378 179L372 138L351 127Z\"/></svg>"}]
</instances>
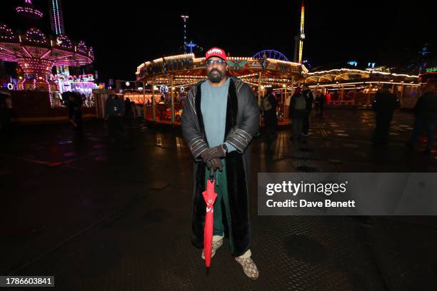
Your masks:
<instances>
[{"instance_id":1,"label":"dark wet paved ground across the fairground","mask_svg":"<svg viewBox=\"0 0 437 291\"><path fill-rule=\"evenodd\" d=\"M371 111L313 118L308 145L281 131L253 141L258 172L435 172L435 155L409 153L409 113L387 149L372 148ZM422 146L423 147L423 146ZM54 275L49 290L437 290L437 219L261 217L251 193L248 280L223 245L205 274L189 242L191 155L179 131L127 127L111 146L103 123L20 128L0 143L0 274ZM4 288L5 289L5 288ZM34 288L44 290L44 288ZM1 290L1 288L0 288ZM13 290L33 290L32 288Z\"/></svg>"}]
</instances>

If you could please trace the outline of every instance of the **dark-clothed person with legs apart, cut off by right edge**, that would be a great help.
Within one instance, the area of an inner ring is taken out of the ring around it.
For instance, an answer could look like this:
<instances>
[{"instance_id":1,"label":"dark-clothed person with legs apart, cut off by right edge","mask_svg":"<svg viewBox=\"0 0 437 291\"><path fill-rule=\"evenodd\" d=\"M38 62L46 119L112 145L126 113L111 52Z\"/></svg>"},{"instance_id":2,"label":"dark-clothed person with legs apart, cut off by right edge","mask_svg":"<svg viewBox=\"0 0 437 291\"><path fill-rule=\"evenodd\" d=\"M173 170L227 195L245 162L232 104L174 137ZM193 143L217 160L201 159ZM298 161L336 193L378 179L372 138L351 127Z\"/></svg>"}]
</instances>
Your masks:
<instances>
[{"instance_id":1,"label":"dark-clothed person with legs apart, cut off by right edge","mask_svg":"<svg viewBox=\"0 0 437 291\"><path fill-rule=\"evenodd\" d=\"M416 106L414 107L414 114L416 121L414 122L413 133L410 141L406 143L406 146L413 150L414 143L423 129L426 131L428 137L428 144L426 149L423 150L424 155L429 155L434 144L434 133L436 129L437 121L437 93L436 83L427 83L423 88L423 94L418 98Z\"/></svg>"}]
</instances>

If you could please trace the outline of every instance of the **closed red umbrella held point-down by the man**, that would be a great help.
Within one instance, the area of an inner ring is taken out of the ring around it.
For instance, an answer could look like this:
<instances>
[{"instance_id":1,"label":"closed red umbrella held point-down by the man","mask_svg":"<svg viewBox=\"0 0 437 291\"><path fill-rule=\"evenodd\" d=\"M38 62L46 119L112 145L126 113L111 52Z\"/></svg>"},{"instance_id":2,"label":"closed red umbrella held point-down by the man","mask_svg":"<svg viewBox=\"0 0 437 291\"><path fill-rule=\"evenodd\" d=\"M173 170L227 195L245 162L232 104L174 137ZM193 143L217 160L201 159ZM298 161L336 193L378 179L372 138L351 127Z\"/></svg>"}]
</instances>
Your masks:
<instances>
[{"instance_id":1,"label":"closed red umbrella held point-down by the man","mask_svg":"<svg viewBox=\"0 0 437 291\"><path fill-rule=\"evenodd\" d=\"M211 175L206 182L206 190L202 193L206 203L206 217L205 217L205 230L204 230L204 252L205 252L205 265L206 270L209 270L211 266L211 250L212 250L212 235L214 224L214 202L217 198L217 193L214 192L214 170L211 170Z\"/></svg>"}]
</instances>

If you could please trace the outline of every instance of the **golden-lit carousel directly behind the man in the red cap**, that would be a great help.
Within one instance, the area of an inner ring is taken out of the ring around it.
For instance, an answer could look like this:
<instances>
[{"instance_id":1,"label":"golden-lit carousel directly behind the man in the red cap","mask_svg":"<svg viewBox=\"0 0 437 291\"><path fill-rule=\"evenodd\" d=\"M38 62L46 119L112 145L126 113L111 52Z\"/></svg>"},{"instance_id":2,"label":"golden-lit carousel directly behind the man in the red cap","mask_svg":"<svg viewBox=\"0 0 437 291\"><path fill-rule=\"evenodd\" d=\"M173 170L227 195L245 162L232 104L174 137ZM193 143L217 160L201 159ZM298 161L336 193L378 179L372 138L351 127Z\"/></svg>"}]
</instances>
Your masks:
<instances>
[{"instance_id":1,"label":"golden-lit carousel directly behind the man in the red cap","mask_svg":"<svg viewBox=\"0 0 437 291\"><path fill-rule=\"evenodd\" d=\"M252 57L228 56L228 74L241 78L253 90L258 104L266 88L276 91L278 98L278 123L287 123L285 104L293 85L303 81L308 73L301 63L288 61L277 51L261 51ZM140 104L144 118L156 123L179 125L184 101L189 89L206 79L205 58L194 53L164 56L141 63L136 70L136 82L142 91L125 94Z\"/></svg>"}]
</instances>

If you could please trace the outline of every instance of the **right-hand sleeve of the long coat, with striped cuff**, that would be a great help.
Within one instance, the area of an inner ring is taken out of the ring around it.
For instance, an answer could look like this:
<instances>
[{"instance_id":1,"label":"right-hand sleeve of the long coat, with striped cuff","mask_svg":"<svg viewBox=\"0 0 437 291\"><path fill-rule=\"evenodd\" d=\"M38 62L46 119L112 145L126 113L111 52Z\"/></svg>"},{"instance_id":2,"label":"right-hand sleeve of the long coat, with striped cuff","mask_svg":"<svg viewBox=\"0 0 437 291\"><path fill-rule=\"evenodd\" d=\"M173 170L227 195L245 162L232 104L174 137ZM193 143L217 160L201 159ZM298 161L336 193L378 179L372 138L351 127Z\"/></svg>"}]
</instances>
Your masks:
<instances>
[{"instance_id":1,"label":"right-hand sleeve of the long coat, with striped cuff","mask_svg":"<svg viewBox=\"0 0 437 291\"><path fill-rule=\"evenodd\" d=\"M243 85L241 95L243 98L242 121L226 140L226 143L231 144L238 153L244 153L244 150L246 150L259 129L259 108L251 88L246 84Z\"/></svg>"}]
</instances>

